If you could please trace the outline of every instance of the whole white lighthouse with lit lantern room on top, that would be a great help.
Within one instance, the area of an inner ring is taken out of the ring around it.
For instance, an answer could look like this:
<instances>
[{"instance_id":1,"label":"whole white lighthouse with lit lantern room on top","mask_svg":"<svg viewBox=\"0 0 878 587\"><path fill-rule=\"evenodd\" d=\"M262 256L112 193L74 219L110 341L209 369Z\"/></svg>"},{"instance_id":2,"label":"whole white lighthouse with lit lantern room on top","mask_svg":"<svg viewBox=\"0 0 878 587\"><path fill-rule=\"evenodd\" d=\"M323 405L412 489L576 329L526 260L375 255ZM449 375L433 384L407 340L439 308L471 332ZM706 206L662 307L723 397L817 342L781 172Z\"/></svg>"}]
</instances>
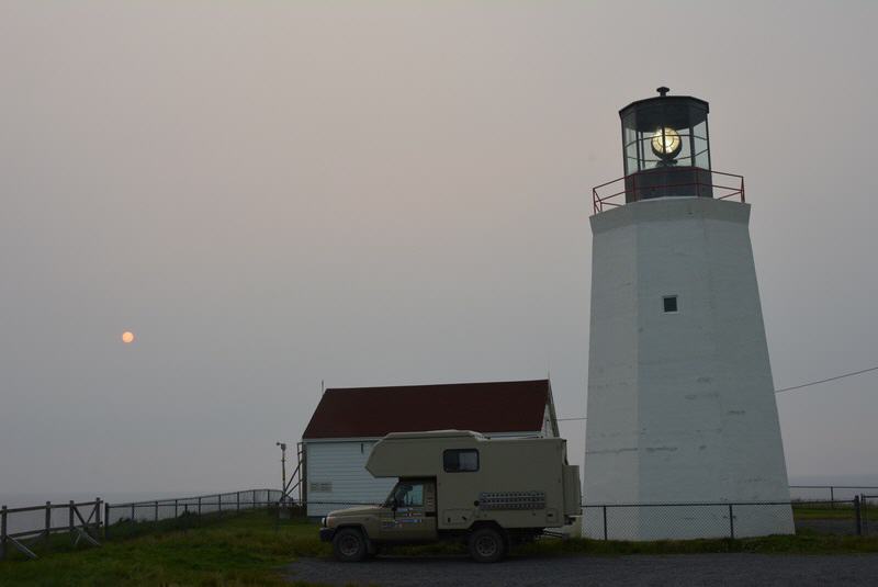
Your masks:
<instances>
[{"instance_id":1,"label":"whole white lighthouse with lit lantern room on top","mask_svg":"<svg viewBox=\"0 0 878 587\"><path fill-rule=\"evenodd\" d=\"M708 103L667 92L619 112L626 176L594 192L585 501L637 506L583 531L791 533L743 178L711 170Z\"/></svg>"}]
</instances>

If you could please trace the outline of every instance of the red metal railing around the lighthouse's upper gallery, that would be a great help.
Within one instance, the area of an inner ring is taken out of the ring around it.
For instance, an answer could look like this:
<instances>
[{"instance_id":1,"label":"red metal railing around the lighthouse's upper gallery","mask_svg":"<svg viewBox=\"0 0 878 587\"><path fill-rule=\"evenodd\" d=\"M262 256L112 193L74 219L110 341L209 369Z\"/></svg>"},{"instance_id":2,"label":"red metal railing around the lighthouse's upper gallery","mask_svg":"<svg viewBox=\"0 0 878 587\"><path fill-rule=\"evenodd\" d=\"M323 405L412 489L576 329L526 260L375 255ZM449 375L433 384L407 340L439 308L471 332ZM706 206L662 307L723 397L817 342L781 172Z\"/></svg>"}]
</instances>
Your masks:
<instances>
[{"instance_id":1,"label":"red metal railing around the lighthouse's upper gallery","mask_svg":"<svg viewBox=\"0 0 878 587\"><path fill-rule=\"evenodd\" d=\"M710 178L709 181L703 181L706 179L705 176ZM716 176L720 177L717 178ZM662 184L649 182L648 185L644 185L641 179L641 184L638 184L638 179L645 177L646 176L642 173L632 173L593 188L592 202L595 214L604 212L604 206L623 206L630 202L644 200L644 197L641 197L641 192L644 190L668 192L673 189L680 189L680 191L694 196L710 196L714 200L740 197L741 202L746 202L744 199L744 176L723 173L722 171L708 171L705 169L699 170L698 173L693 176L695 181ZM729 185L730 183L731 185ZM669 193L667 195L675 194Z\"/></svg>"}]
</instances>

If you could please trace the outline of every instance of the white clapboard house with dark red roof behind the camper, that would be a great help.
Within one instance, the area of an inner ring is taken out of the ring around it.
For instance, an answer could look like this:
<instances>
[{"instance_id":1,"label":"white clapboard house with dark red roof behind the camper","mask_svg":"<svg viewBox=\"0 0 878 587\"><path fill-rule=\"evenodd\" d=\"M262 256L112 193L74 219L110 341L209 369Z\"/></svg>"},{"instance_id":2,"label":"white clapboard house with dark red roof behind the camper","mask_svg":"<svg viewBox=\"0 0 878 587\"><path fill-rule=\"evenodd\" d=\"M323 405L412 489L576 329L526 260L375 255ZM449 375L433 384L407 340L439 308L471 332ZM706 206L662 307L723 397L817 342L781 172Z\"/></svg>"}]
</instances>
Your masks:
<instances>
[{"instance_id":1,"label":"white clapboard house with dark red roof behind the camper","mask_svg":"<svg viewBox=\"0 0 878 587\"><path fill-rule=\"evenodd\" d=\"M305 433L308 516L380 504L395 479L365 470L390 432L474 430L486 437L558 437L549 380L326 390Z\"/></svg>"}]
</instances>

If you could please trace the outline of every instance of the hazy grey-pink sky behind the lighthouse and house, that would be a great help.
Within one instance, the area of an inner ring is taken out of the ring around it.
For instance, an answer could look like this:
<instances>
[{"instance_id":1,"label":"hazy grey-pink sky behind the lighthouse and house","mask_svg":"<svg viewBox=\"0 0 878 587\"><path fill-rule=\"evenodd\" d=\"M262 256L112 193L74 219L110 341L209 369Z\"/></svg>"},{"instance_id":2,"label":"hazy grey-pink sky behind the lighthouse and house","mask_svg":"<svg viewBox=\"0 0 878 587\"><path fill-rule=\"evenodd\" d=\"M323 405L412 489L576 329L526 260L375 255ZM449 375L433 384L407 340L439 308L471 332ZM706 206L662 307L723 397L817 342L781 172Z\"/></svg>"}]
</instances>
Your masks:
<instances>
[{"instance_id":1,"label":"hazy grey-pink sky behind the lighthouse and house","mask_svg":"<svg viewBox=\"0 0 878 587\"><path fill-rule=\"evenodd\" d=\"M878 364L876 22L0 1L0 493L277 486L322 382L551 374L583 416L590 189L662 84L710 102L713 168L745 177L776 387ZM878 473L878 373L778 408L792 478Z\"/></svg>"}]
</instances>

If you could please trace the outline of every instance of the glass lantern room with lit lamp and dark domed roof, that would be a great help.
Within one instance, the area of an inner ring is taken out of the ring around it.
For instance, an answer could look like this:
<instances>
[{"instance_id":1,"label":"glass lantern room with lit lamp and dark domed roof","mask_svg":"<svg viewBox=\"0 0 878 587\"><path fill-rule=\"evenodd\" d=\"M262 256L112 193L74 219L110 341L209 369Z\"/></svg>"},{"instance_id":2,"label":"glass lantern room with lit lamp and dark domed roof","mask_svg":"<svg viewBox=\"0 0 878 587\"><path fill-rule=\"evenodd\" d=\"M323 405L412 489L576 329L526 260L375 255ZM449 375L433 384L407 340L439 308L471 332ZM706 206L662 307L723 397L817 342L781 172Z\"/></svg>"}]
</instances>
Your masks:
<instances>
[{"instance_id":1,"label":"glass lantern room with lit lamp and dark domed roof","mask_svg":"<svg viewBox=\"0 0 878 587\"><path fill-rule=\"evenodd\" d=\"M619 111L626 200L712 197L708 103L688 95L638 100Z\"/></svg>"}]
</instances>

